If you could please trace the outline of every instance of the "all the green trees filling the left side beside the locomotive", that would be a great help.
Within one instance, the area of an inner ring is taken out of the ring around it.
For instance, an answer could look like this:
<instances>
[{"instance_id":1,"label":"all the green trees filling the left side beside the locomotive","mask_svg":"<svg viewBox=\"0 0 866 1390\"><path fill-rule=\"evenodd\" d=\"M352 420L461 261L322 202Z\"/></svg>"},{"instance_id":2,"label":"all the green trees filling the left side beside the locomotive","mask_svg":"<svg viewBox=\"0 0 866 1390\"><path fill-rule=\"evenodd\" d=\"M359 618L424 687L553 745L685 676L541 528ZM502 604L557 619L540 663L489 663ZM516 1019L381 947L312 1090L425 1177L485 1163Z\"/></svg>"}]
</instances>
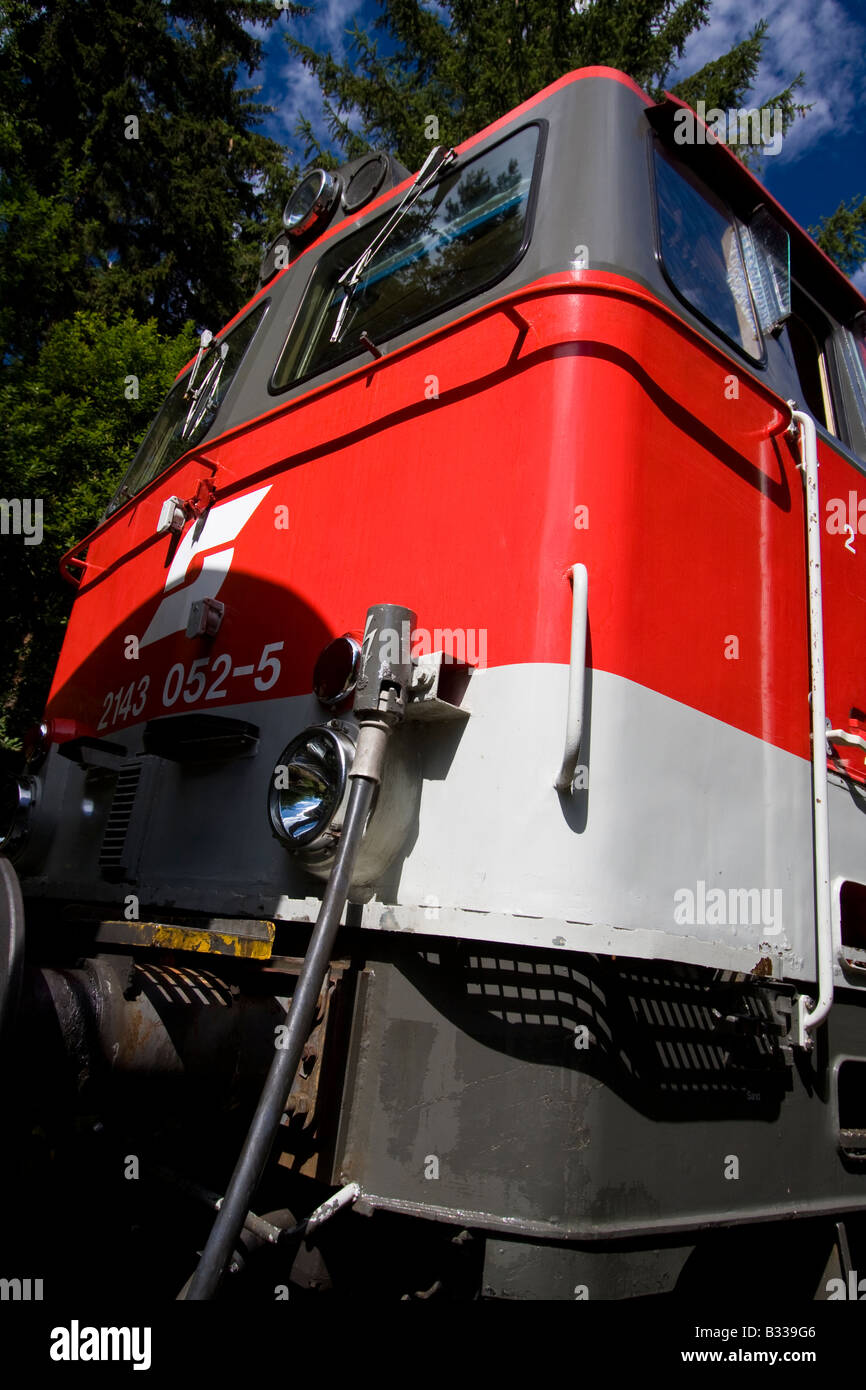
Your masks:
<instances>
[{"instance_id":1,"label":"all the green trees filling the left side beside the locomotive","mask_svg":"<svg viewBox=\"0 0 866 1390\"><path fill-rule=\"evenodd\" d=\"M256 289L295 171L256 131L245 21L281 13L0 0L0 492L44 507L42 545L0 537L0 746L42 714L60 555L99 520L192 322L220 328Z\"/></svg>"}]
</instances>

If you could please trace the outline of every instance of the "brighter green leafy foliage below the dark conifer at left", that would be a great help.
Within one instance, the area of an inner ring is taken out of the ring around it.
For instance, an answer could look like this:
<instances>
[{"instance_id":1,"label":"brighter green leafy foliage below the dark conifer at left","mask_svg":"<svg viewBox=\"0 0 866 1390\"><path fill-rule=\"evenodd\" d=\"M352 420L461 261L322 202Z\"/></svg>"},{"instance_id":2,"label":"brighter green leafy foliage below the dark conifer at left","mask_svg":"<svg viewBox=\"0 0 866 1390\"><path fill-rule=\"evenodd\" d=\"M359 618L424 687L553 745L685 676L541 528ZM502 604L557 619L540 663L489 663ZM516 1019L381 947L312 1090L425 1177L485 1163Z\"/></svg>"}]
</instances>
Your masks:
<instances>
[{"instance_id":1,"label":"brighter green leafy foliage below the dark conifer at left","mask_svg":"<svg viewBox=\"0 0 866 1390\"><path fill-rule=\"evenodd\" d=\"M79 310L49 329L35 363L4 374L3 493L42 499L43 539L0 537L0 744L42 717L72 599L57 560L97 524L193 345L190 322L165 338L153 318Z\"/></svg>"}]
</instances>

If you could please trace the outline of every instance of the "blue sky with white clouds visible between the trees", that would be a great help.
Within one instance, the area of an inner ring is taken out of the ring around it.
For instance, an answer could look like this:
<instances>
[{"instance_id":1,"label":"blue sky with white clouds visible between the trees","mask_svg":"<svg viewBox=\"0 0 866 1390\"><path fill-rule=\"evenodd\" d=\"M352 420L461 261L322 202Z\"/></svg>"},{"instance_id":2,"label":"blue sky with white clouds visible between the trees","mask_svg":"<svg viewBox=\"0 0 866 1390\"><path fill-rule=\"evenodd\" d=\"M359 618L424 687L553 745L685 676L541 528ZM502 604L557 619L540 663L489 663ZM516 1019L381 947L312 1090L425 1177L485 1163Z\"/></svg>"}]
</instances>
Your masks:
<instances>
[{"instance_id":1,"label":"blue sky with white clouds visible between the trees","mask_svg":"<svg viewBox=\"0 0 866 1390\"><path fill-rule=\"evenodd\" d=\"M284 15L267 33L264 63L254 78L263 85L261 100L275 107L264 122L265 132L289 146L296 146L299 113L310 117L320 139L327 132L318 85L291 57L284 42L286 26L303 42L348 57L352 21L370 28L378 14L375 0L313 4L311 17L297 21ZM783 207L808 227L842 197L866 193L866 0L713 0L710 22L691 36L671 82L726 53L760 17L770 31L753 99L773 96L802 68L802 100L813 103L781 152L765 160L762 178ZM866 293L866 264L853 278Z\"/></svg>"}]
</instances>

